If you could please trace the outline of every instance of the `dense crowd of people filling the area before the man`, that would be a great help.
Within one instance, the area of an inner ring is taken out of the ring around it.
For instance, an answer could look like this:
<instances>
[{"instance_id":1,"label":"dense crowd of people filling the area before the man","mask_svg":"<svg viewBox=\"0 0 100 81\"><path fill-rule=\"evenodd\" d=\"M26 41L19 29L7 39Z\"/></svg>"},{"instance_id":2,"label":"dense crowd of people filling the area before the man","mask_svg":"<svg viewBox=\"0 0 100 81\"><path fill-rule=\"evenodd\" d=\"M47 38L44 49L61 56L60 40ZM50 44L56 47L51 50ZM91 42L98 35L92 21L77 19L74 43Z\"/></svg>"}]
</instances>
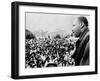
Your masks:
<instances>
[{"instance_id":1,"label":"dense crowd of people filling the area before the man","mask_svg":"<svg viewBox=\"0 0 100 81\"><path fill-rule=\"evenodd\" d=\"M76 50L75 43L71 37L26 39L25 68L74 66L71 56Z\"/></svg>"}]
</instances>

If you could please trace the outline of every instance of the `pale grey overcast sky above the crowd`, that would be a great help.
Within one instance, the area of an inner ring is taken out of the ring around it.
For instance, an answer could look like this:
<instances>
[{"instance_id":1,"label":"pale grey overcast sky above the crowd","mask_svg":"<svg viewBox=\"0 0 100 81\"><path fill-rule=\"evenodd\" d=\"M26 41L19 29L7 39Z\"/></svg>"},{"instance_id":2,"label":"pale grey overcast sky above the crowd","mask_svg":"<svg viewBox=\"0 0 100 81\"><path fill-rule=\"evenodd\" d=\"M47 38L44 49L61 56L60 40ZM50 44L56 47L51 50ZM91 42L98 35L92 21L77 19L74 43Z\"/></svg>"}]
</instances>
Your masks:
<instances>
[{"instance_id":1,"label":"pale grey overcast sky above the crowd","mask_svg":"<svg viewBox=\"0 0 100 81\"><path fill-rule=\"evenodd\" d=\"M80 15L26 13L26 29L31 32L43 30L55 32L56 30L66 30L71 32L74 19Z\"/></svg>"}]
</instances>

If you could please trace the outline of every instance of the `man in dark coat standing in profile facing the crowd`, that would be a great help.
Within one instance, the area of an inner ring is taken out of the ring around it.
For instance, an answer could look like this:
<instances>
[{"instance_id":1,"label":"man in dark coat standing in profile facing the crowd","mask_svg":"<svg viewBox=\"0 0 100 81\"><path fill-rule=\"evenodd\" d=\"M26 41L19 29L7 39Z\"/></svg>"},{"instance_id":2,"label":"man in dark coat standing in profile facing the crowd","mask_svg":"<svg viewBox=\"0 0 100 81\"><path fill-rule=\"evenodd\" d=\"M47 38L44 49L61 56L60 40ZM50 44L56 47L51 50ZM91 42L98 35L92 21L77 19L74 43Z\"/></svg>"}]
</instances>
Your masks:
<instances>
[{"instance_id":1,"label":"man in dark coat standing in profile facing the crowd","mask_svg":"<svg viewBox=\"0 0 100 81\"><path fill-rule=\"evenodd\" d=\"M76 42L76 51L73 54L75 65L89 65L89 28L86 17L80 16L74 20L73 34L79 37Z\"/></svg>"}]
</instances>

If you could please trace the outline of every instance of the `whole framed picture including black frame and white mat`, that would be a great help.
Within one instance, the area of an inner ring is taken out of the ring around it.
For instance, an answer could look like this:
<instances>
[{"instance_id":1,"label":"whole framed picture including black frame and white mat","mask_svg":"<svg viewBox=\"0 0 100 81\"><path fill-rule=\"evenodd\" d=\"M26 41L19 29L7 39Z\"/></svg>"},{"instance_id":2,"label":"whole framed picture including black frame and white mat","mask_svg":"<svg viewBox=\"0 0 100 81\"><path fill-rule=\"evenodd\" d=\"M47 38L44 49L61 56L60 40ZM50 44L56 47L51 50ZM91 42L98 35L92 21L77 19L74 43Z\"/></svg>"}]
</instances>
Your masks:
<instances>
[{"instance_id":1,"label":"whole framed picture including black frame and white mat","mask_svg":"<svg viewBox=\"0 0 100 81\"><path fill-rule=\"evenodd\" d=\"M12 78L97 74L97 7L12 3Z\"/></svg>"}]
</instances>

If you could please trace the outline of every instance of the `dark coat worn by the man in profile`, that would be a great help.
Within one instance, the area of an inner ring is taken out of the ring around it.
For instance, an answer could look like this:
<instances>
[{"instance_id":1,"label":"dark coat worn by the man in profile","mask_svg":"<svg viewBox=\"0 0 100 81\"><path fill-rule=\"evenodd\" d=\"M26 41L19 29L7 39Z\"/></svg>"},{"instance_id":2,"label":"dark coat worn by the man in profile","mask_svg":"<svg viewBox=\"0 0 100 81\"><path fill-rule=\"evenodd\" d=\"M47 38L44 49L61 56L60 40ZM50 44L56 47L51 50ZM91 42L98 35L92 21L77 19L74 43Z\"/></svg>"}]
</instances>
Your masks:
<instances>
[{"instance_id":1,"label":"dark coat worn by the man in profile","mask_svg":"<svg viewBox=\"0 0 100 81\"><path fill-rule=\"evenodd\" d=\"M76 65L89 65L89 30L84 30L76 43L76 51L72 56Z\"/></svg>"}]
</instances>

